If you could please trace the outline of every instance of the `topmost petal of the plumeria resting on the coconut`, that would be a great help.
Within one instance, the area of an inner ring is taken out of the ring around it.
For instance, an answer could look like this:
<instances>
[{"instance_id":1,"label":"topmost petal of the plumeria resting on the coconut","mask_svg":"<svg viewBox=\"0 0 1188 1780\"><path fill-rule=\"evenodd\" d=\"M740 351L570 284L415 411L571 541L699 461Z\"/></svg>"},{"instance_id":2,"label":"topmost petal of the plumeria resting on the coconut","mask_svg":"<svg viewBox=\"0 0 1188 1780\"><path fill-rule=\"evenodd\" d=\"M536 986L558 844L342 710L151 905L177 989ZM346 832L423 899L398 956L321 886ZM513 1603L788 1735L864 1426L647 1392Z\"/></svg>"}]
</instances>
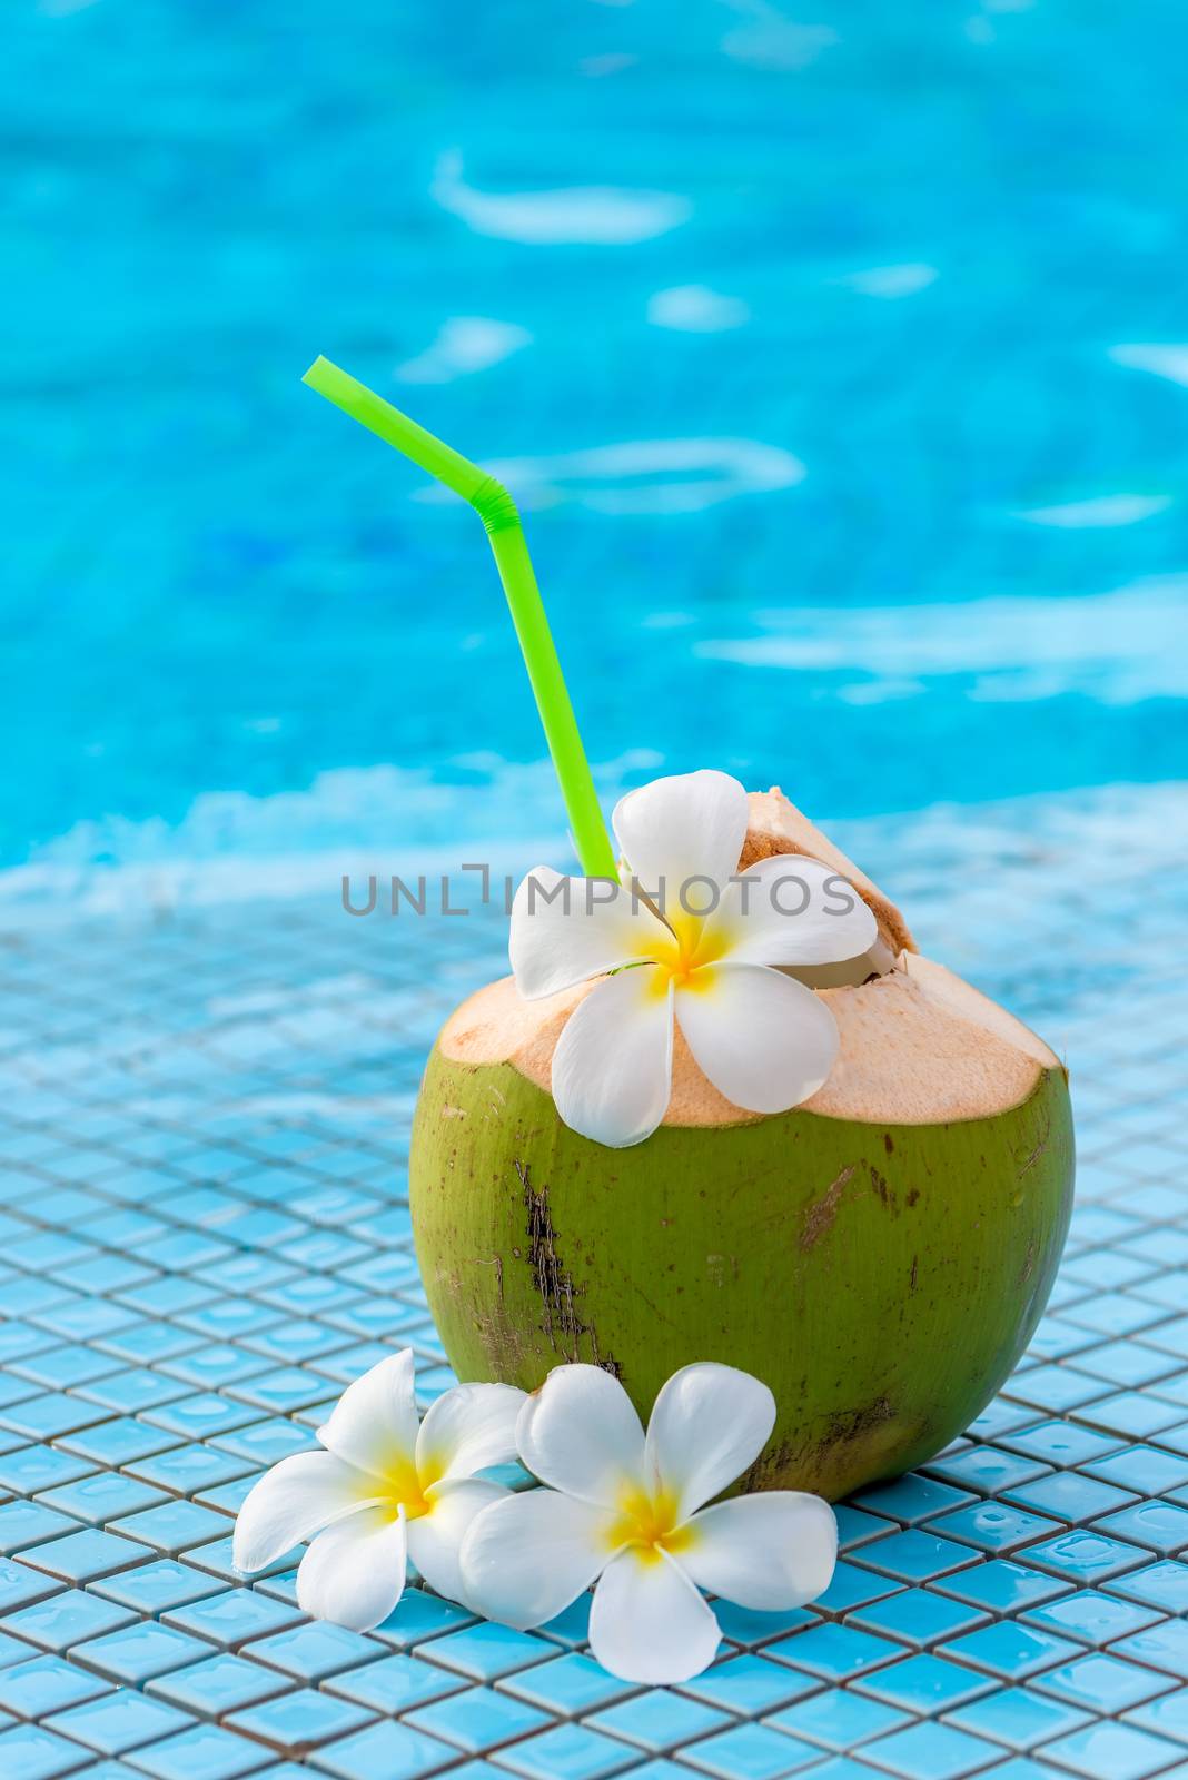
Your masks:
<instances>
[{"instance_id":1,"label":"topmost petal of the plumeria resting on the coconut","mask_svg":"<svg viewBox=\"0 0 1188 1780\"><path fill-rule=\"evenodd\" d=\"M724 885L738 870L747 838L747 792L729 773L681 773L640 785L615 805L615 838L640 888L656 894L676 920L679 892L690 878ZM706 888L688 888L690 906L704 906Z\"/></svg>"}]
</instances>

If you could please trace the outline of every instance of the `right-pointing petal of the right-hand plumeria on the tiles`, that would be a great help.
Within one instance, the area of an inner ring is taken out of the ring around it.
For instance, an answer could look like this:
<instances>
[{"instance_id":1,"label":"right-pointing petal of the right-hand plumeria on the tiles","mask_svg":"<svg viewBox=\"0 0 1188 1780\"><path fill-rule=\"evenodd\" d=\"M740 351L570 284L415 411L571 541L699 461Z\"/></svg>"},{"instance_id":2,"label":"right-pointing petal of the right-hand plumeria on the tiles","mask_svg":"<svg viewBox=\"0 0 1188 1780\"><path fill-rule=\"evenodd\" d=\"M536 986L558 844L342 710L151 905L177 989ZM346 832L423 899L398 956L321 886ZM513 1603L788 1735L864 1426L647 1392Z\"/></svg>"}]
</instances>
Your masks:
<instances>
[{"instance_id":1,"label":"right-pointing petal of the right-hand plumeria on the tiles","mask_svg":"<svg viewBox=\"0 0 1188 1780\"><path fill-rule=\"evenodd\" d=\"M704 1508L679 1561L699 1588L756 1613L816 1600L838 1561L838 1522L820 1495L772 1490Z\"/></svg>"}]
</instances>

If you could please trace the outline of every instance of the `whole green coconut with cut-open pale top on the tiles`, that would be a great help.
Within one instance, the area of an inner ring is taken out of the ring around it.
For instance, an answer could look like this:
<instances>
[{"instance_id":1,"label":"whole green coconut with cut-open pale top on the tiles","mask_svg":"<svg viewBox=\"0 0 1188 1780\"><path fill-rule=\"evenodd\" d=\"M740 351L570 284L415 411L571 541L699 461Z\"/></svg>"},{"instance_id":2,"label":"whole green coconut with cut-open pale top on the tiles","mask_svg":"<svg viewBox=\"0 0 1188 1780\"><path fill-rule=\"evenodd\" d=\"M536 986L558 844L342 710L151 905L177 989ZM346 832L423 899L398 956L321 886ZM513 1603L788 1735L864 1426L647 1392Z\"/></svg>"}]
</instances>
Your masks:
<instances>
[{"instance_id":1,"label":"whole green coconut with cut-open pale top on the tiles","mask_svg":"<svg viewBox=\"0 0 1188 1780\"><path fill-rule=\"evenodd\" d=\"M903 917L777 790L751 797L740 865L807 853L879 940L806 974L841 1050L825 1086L742 1112L674 1054L663 1125L628 1150L569 1130L557 1038L589 986L471 995L434 1047L411 1205L429 1305L461 1380L534 1390L587 1360L642 1415L678 1367L720 1360L779 1417L747 1488L829 1499L919 1465L1026 1347L1072 1200L1067 1072L1028 1027L921 958Z\"/></svg>"}]
</instances>

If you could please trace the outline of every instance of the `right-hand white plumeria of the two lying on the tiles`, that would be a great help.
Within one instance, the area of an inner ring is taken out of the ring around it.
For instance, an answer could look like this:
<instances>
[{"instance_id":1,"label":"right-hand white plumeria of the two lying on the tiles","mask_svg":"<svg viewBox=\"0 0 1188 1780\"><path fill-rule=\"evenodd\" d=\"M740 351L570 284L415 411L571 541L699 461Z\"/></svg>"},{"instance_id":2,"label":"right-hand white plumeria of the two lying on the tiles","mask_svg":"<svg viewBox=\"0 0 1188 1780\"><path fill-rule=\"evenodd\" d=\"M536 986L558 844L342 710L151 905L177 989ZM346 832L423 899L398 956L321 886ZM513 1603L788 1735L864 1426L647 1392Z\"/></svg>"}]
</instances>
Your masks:
<instances>
[{"instance_id":1,"label":"right-hand white plumeria of the two lying on the tiles","mask_svg":"<svg viewBox=\"0 0 1188 1780\"><path fill-rule=\"evenodd\" d=\"M681 1682L710 1666L718 1622L701 1590L779 1611L829 1586L838 1522L816 1495L772 1490L704 1504L761 1452L767 1385L729 1365L686 1365L656 1397L647 1435L596 1365L562 1365L519 1412L516 1442L546 1490L484 1508L462 1540L466 1604L526 1630L598 1582L590 1650L612 1675Z\"/></svg>"}]
</instances>

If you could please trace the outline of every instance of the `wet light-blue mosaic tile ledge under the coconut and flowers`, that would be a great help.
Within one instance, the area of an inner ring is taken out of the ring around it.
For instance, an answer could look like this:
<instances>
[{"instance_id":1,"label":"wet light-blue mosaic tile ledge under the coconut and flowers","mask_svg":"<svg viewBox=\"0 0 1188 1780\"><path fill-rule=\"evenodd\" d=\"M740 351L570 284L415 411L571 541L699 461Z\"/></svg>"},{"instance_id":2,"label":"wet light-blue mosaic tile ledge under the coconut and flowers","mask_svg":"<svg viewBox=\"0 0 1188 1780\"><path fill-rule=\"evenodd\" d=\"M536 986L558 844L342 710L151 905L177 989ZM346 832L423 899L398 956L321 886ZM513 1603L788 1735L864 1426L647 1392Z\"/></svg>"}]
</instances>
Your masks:
<instances>
[{"instance_id":1,"label":"wet light-blue mosaic tile ledge under the coconut and flowers","mask_svg":"<svg viewBox=\"0 0 1188 1780\"><path fill-rule=\"evenodd\" d=\"M244 1490L347 1380L407 1344L448 1385L407 1134L498 924L0 934L5 1780L1188 1771L1188 1018L1151 963L1177 890L1158 849L1092 879L1042 821L847 837L1069 1059L1078 1210L1035 1344L966 1438L843 1506L822 1602L722 1606L717 1666L672 1689L606 1677L583 1604L521 1634L411 1590L359 1636L302 1618L295 1554L229 1566Z\"/></svg>"}]
</instances>

